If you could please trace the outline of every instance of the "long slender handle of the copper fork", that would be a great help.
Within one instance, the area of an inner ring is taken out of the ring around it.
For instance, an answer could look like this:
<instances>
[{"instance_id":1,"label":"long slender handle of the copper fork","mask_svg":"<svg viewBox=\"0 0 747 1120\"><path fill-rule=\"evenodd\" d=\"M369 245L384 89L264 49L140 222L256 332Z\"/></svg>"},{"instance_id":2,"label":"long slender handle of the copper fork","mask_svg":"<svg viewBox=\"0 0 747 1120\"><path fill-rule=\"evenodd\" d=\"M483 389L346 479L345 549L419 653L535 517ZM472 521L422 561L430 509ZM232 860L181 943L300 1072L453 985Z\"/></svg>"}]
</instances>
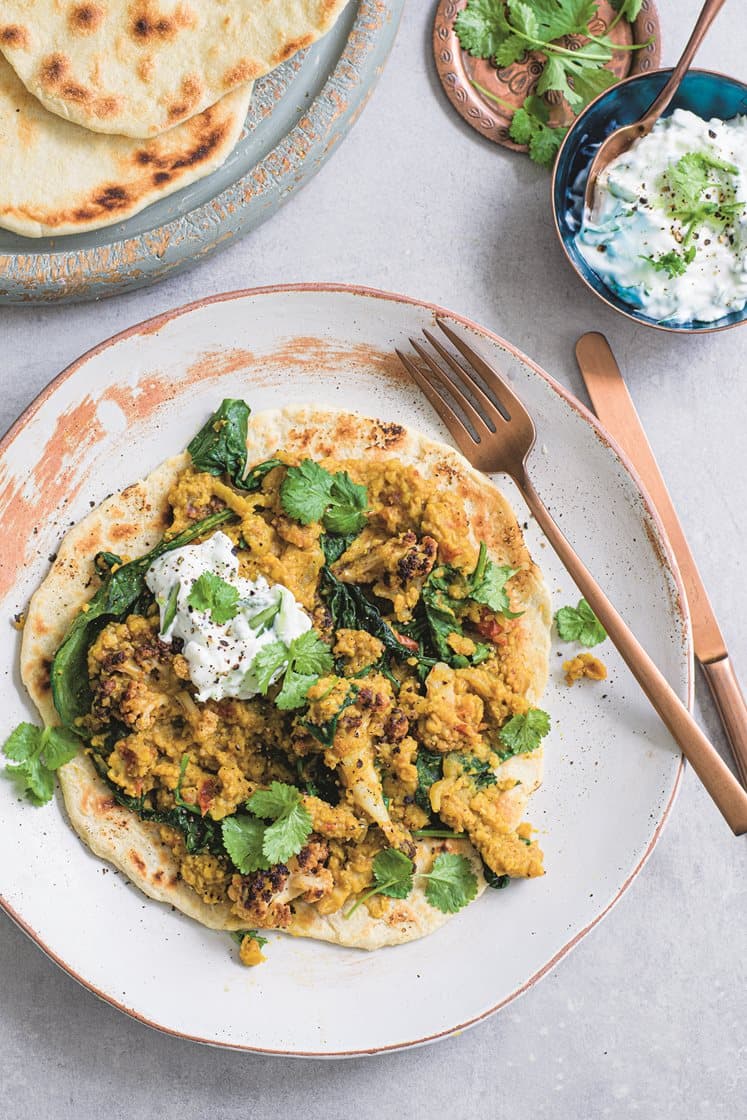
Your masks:
<instances>
[{"instance_id":1,"label":"long slender handle of the copper fork","mask_svg":"<svg viewBox=\"0 0 747 1120\"><path fill-rule=\"evenodd\" d=\"M542 532L571 575L585 599L607 631L626 665L688 759L695 774L716 802L735 836L747 832L747 791L741 787L716 748L695 724L676 693L660 673L633 632L601 590L594 576L576 554L552 520L542 498L524 474L515 478L524 501L534 514Z\"/></svg>"}]
</instances>

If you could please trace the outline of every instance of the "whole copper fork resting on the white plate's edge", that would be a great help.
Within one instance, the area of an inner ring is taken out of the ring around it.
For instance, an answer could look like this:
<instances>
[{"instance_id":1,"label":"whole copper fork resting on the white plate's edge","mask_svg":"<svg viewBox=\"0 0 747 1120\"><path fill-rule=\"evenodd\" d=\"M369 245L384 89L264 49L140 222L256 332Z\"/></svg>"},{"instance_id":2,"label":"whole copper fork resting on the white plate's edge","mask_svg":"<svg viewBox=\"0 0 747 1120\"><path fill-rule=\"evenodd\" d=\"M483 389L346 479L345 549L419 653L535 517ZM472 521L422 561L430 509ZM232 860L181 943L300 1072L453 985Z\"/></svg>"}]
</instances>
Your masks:
<instances>
[{"instance_id":1,"label":"whole copper fork resting on the white plate's edge","mask_svg":"<svg viewBox=\"0 0 747 1120\"><path fill-rule=\"evenodd\" d=\"M478 470L510 475L521 491L544 535L568 569L575 584L607 631L623 660L669 728L695 774L708 790L736 836L747 832L747 791L743 788L703 735L680 698L670 688L646 651L624 623L594 576L579 559L548 512L526 473L534 446L531 416L512 389L443 320L437 320L446 337L466 360L463 365L429 330L426 339L441 364L419 342L410 343L428 373L398 349L404 367L422 389L465 457ZM445 368L450 371L450 375ZM494 400L499 408L496 408ZM463 419L454 404L458 405ZM471 430L470 430L471 429Z\"/></svg>"}]
</instances>

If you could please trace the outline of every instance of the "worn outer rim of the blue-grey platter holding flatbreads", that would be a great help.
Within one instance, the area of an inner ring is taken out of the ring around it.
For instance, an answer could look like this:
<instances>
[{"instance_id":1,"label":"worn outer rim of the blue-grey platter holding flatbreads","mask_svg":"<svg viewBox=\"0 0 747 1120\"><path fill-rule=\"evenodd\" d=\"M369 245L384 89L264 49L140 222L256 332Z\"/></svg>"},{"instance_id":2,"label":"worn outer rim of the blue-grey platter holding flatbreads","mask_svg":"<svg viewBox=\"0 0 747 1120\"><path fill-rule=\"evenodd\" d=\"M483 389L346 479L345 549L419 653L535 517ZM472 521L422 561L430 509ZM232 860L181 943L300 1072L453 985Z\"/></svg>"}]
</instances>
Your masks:
<instances>
[{"instance_id":1,"label":"worn outer rim of the blue-grey platter holding flatbreads","mask_svg":"<svg viewBox=\"0 0 747 1120\"><path fill-rule=\"evenodd\" d=\"M44 253L27 239L28 251L0 252L0 306L82 302L132 291L192 268L270 217L324 166L383 73L404 0L355 3L353 27L320 93L254 167L204 204L137 235L92 249L75 249L75 235L60 237L57 251Z\"/></svg>"}]
</instances>

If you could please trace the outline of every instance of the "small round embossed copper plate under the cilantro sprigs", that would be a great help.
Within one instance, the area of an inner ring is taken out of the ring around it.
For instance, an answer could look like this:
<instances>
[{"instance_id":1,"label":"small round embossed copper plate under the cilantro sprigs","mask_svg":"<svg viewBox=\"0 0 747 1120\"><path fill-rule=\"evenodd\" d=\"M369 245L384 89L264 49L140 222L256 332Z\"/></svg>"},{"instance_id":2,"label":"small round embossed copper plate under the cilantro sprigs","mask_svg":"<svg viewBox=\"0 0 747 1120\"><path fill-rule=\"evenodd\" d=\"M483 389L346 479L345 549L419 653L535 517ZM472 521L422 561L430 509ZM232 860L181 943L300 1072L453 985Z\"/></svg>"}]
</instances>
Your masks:
<instances>
[{"instance_id":1,"label":"small round embossed copper plate under the cilantro sprigs","mask_svg":"<svg viewBox=\"0 0 747 1120\"><path fill-rule=\"evenodd\" d=\"M526 151L526 144L516 143L508 136L508 127L513 110L496 104L475 88L473 82L484 86L507 105L519 109L524 99L534 93L544 56L538 50L527 52L517 63L496 69L487 58L473 58L461 49L454 30L457 12L467 7L467 0L440 0L433 25L433 55L436 69L441 80L446 95L459 113L482 136L503 144L513 151ZM609 0L599 0L598 15L592 21L591 31L604 35L615 17L615 10ZM611 69L618 78L633 74L643 74L659 66L661 56L661 27L659 13L653 0L643 0L641 13L634 24L620 20L613 29L613 41L629 46L632 43L646 43L653 36L653 43L641 50L620 50L613 56ZM578 49L585 41L580 36L567 36L563 40L570 49ZM568 103L554 100L553 94L547 95L551 106L550 121L553 124L570 124L575 114Z\"/></svg>"}]
</instances>

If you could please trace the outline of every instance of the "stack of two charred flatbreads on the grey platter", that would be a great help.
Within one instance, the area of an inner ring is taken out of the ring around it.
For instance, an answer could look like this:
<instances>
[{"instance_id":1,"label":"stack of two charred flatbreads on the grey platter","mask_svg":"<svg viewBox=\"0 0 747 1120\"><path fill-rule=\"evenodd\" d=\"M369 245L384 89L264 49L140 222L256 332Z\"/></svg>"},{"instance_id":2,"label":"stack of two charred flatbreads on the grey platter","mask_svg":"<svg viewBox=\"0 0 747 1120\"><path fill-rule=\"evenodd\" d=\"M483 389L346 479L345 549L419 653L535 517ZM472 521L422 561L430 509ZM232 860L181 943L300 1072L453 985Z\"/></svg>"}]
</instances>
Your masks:
<instances>
[{"instance_id":1,"label":"stack of two charred flatbreads on the grey platter","mask_svg":"<svg viewBox=\"0 0 747 1120\"><path fill-rule=\"evenodd\" d=\"M97 230L208 175L346 2L1 0L0 226Z\"/></svg>"}]
</instances>

